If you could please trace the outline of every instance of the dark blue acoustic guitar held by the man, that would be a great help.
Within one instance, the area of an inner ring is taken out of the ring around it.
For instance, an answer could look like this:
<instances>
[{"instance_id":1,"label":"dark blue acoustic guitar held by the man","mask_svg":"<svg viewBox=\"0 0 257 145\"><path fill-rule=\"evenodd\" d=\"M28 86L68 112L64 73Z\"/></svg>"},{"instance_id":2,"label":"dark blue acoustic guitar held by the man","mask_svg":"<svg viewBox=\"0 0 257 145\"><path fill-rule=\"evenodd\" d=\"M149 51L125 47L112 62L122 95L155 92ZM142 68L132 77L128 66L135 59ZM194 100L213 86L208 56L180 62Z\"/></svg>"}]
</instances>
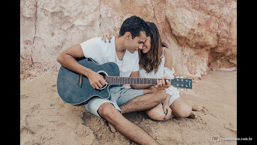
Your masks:
<instances>
[{"instance_id":1,"label":"dark blue acoustic guitar held by the man","mask_svg":"<svg viewBox=\"0 0 257 145\"><path fill-rule=\"evenodd\" d=\"M77 62L103 76L108 83L102 88L94 89L86 76L61 66L57 77L57 92L62 101L71 105L83 105L95 97L111 99L111 87L120 87L122 84L157 85L158 78L121 77L116 63L108 62L97 64L86 57L76 58ZM192 79L168 79L171 85L177 88L192 89ZM167 84L167 82L165 81Z\"/></svg>"}]
</instances>

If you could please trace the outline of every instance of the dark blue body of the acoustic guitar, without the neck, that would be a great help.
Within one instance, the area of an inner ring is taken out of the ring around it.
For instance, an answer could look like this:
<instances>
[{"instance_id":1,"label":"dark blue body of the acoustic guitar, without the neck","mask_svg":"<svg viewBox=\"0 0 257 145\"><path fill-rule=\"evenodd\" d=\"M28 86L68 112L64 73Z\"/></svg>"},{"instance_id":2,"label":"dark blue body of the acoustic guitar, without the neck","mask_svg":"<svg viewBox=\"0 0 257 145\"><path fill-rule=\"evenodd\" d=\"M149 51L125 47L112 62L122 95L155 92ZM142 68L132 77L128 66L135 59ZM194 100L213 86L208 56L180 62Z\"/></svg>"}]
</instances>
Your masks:
<instances>
[{"instance_id":1,"label":"dark blue body of the acoustic guitar, without the neck","mask_svg":"<svg viewBox=\"0 0 257 145\"><path fill-rule=\"evenodd\" d=\"M120 76L120 70L116 63L97 64L90 58L85 57L76 58L76 60L82 66L92 69L94 72L104 74L103 76ZM110 88L119 86L108 84L103 87L104 89L94 89L86 76L66 69L64 66L59 69L56 83L57 92L62 101L71 105L83 105L95 97L111 99Z\"/></svg>"}]
</instances>

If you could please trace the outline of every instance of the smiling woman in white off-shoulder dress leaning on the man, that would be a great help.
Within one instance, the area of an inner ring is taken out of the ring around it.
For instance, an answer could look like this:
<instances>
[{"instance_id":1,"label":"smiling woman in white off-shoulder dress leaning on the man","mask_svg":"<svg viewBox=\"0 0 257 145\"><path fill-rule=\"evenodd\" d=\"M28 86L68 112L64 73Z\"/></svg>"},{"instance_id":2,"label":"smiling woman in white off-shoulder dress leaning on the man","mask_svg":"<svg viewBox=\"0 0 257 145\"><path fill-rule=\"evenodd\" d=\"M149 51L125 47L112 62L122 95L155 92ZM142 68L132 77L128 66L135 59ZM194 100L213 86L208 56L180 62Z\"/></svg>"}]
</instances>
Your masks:
<instances>
[{"instance_id":1,"label":"smiling woman in white off-shoulder dress leaning on the man","mask_svg":"<svg viewBox=\"0 0 257 145\"><path fill-rule=\"evenodd\" d=\"M160 78L168 76L174 79L174 69L172 63L171 50L161 41L161 37L156 25L152 22L146 22L150 27L151 35L143 43L142 50L139 50L139 77L142 78ZM102 34L102 40L111 40L109 33ZM110 42L110 41L109 41ZM187 117L196 119L194 111L202 110L202 106L195 105L191 101L184 101L179 90L174 86L166 89L166 99L152 109L146 110L149 118L158 121L165 121L178 117Z\"/></svg>"}]
</instances>

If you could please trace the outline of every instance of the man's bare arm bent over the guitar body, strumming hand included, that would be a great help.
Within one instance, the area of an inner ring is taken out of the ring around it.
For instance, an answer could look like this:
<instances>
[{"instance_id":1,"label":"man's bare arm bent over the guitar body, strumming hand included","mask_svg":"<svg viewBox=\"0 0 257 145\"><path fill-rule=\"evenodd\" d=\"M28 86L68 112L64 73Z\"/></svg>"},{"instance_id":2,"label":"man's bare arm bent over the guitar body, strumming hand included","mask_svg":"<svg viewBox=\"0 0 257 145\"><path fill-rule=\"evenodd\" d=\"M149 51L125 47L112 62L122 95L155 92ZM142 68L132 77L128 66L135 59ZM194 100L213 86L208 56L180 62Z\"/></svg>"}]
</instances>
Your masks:
<instances>
[{"instance_id":1,"label":"man's bare arm bent over the guitar body, strumming hand included","mask_svg":"<svg viewBox=\"0 0 257 145\"><path fill-rule=\"evenodd\" d=\"M87 76L90 82L90 85L94 89L102 88L103 85L107 84L103 76L99 75L98 73L92 71L85 66L82 66L80 63L75 60L75 58L83 57L84 53L81 48L81 45L75 45L67 50L64 50L57 56L57 62L60 63L67 69L70 69L74 72L78 72L84 76Z\"/></svg>"}]
</instances>

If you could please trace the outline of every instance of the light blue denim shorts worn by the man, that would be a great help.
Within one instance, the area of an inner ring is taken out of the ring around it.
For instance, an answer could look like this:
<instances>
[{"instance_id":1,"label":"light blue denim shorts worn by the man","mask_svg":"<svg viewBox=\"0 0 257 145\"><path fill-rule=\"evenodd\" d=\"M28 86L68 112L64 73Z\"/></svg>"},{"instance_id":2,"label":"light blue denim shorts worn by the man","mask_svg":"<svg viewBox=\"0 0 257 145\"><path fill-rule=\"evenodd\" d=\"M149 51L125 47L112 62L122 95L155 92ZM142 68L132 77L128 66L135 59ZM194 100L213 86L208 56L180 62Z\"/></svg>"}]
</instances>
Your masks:
<instances>
[{"instance_id":1,"label":"light blue denim shorts worn by the man","mask_svg":"<svg viewBox=\"0 0 257 145\"><path fill-rule=\"evenodd\" d=\"M130 101L133 98L136 98L137 96L144 95L144 93L143 93L143 89L131 89L131 88L126 89L123 85L121 87L112 87L110 89L110 95L111 95L111 100L102 99L99 97L93 98L91 101L89 101L85 105L86 110L89 111L90 113L95 114L96 116L100 117L100 115L97 113L97 110L103 103L108 102L108 103L113 104L114 107L118 111L120 111L120 113L122 113L119 106L127 103L128 101ZM102 117L100 117L100 118L102 118ZM104 118L102 118L102 119L104 119Z\"/></svg>"}]
</instances>

